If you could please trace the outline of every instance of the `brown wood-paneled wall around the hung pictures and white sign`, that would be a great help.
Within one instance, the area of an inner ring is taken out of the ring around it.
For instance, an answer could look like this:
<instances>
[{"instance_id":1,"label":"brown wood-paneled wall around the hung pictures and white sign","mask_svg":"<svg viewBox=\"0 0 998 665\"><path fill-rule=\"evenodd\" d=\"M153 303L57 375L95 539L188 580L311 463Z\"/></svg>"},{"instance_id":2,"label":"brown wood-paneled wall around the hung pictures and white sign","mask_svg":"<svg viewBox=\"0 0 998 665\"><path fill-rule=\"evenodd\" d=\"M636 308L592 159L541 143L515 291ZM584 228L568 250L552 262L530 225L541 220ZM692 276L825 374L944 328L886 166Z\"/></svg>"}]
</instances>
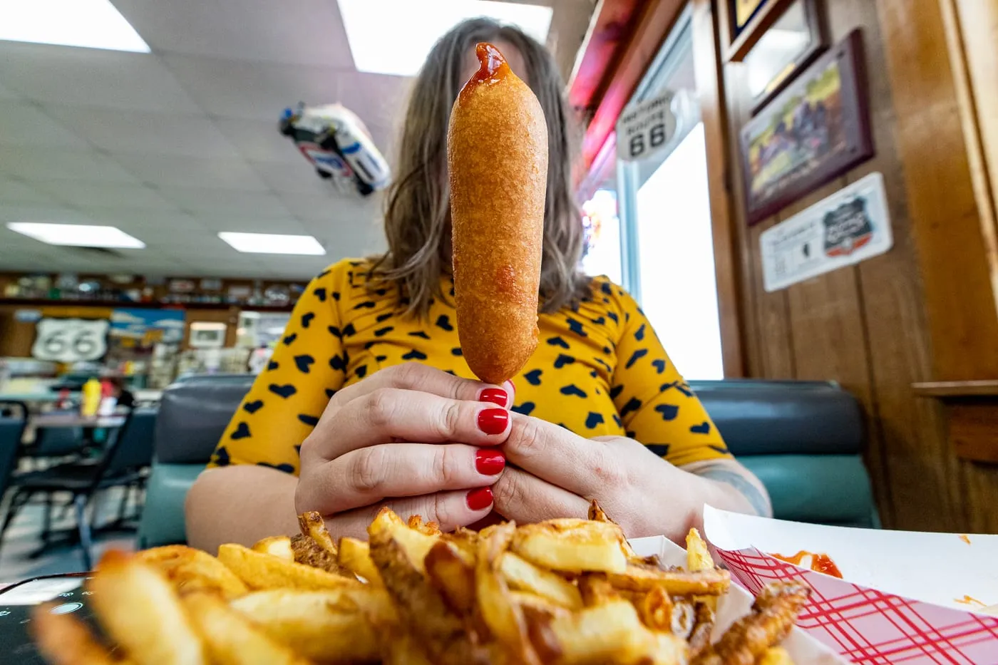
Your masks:
<instances>
[{"instance_id":1,"label":"brown wood-paneled wall around the hung pictures and white sign","mask_svg":"<svg viewBox=\"0 0 998 665\"><path fill-rule=\"evenodd\" d=\"M832 42L863 30L876 156L751 228L733 140L749 118L745 72L723 67L731 282L747 373L837 380L856 395L886 526L998 532L998 466L958 459L941 403L912 389L998 378L998 317L939 0L822 4ZM761 232L873 171L884 176L894 248L766 294Z\"/></svg>"}]
</instances>

